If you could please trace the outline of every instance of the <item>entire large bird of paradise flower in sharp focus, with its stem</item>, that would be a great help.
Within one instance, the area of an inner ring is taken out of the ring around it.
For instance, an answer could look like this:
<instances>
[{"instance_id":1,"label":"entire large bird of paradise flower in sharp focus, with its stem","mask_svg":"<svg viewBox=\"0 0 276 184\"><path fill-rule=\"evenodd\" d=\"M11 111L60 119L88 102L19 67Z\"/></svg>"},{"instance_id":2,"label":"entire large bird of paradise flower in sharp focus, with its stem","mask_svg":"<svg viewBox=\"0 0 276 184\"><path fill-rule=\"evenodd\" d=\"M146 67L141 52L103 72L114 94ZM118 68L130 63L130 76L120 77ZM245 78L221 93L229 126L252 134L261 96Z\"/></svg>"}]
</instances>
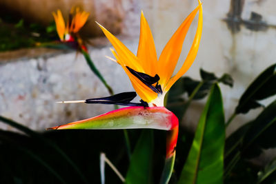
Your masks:
<instances>
[{"instance_id":1,"label":"entire large bird of paradise flower in sharp focus, with its stem","mask_svg":"<svg viewBox=\"0 0 276 184\"><path fill-rule=\"evenodd\" d=\"M115 55L117 63L121 65L141 97L141 103L132 103L135 92L124 92L99 99L87 99L85 101L63 101L62 103L103 103L128 105L128 108L114 110L100 116L92 117L66 125L51 127L50 130L61 129L128 129L128 128L152 128L158 130L168 130L166 143L166 162L164 172L161 176L161 183L168 183L172 174L175 162L175 147L177 145L179 122L175 114L164 107L164 96L172 85L179 79L193 64L202 32L202 6L191 12L183 23L179 26L175 34L166 44L157 60L155 43L150 31L148 22L141 13L140 38L137 56L130 52L126 46L112 35L102 25L99 26L115 50L111 50ZM182 45L190 24L193 22L197 12L199 19L197 31L193 44L188 52L188 56L180 70L172 76L177 61L181 54Z\"/></svg>"}]
</instances>

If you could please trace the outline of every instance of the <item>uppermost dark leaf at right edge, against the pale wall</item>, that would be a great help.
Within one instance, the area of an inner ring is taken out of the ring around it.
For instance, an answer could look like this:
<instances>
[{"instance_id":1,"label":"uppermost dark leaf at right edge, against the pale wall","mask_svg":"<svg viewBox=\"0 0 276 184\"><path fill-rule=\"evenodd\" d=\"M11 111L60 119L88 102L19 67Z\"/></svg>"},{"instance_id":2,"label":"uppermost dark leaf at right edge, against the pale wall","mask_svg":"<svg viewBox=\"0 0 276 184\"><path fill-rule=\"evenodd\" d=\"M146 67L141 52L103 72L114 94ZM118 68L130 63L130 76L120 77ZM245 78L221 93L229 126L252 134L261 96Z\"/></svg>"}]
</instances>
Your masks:
<instances>
[{"instance_id":1,"label":"uppermost dark leaf at right edge, against the pale wall","mask_svg":"<svg viewBox=\"0 0 276 184\"><path fill-rule=\"evenodd\" d=\"M251 109L259 108L262 105L257 102L266 99L269 96L276 94L276 63L266 68L264 72L259 74L257 78L251 83L235 109L235 113L245 114Z\"/></svg>"}]
</instances>

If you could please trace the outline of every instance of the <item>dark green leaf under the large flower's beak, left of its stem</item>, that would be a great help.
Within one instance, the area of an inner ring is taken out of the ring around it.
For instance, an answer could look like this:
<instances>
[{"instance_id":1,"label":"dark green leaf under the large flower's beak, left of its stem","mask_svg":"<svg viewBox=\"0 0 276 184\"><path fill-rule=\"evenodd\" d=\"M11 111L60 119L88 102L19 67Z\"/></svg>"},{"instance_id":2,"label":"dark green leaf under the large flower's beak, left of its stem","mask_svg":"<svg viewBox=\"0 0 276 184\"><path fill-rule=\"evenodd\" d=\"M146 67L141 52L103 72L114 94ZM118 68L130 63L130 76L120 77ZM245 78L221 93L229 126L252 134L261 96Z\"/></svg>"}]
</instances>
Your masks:
<instances>
[{"instance_id":1,"label":"dark green leaf under the large flower's beak, left of its stem","mask_svg":"<svg viewBox=\"0 0 276 184\"><path fill-rule=\"evenodd\" d=\"M130 159L126 183L151 183L153 147L152 130L143 130Z\"/></svg>"}]
</instances>

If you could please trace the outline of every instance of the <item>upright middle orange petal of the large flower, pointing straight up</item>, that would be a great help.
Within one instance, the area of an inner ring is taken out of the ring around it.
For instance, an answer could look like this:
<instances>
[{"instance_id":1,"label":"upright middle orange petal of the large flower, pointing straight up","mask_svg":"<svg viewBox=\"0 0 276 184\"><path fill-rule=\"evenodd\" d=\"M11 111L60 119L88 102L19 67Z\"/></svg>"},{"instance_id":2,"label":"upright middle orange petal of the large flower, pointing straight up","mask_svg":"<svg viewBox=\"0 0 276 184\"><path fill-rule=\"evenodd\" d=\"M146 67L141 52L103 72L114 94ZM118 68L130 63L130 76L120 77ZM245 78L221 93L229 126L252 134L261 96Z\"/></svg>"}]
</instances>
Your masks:
<instances>
[{"instance_id":1,"label":"upright middle orange petal of the large flower, pointing straight up","mask_svg":"<svg viewBox=\"0 0 276 184\"><path fill-rule=\"evenodd\" d=\"M146 74L154 76L157 74L157 54L155 50L155 42L148 26L148 22L141 12L140 22L140 39L137 51L137 57L139 58L142 67Z\"/></svg>"}]
</instances>

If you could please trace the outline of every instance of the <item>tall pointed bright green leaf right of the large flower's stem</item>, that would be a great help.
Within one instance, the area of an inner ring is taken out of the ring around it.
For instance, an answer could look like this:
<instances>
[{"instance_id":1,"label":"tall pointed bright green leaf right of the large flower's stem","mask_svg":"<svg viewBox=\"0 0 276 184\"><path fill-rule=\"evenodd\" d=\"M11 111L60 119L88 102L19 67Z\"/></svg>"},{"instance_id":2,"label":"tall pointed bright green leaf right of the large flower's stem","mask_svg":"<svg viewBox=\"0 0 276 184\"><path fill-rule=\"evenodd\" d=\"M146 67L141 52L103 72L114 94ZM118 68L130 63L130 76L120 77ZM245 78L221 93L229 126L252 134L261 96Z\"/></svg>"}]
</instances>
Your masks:
<instances>
[{"instance_id":1,"label":"tall pointed bright green leaf right of the large flower's stem","mask_svg":"<svg viewBox=\"0 0 276 184\"><path fill-rule=\"evenodd\" d=\"M217 83L201 114L179 183L223 183L224 109Z\"/></svg>"}]
</instances>

